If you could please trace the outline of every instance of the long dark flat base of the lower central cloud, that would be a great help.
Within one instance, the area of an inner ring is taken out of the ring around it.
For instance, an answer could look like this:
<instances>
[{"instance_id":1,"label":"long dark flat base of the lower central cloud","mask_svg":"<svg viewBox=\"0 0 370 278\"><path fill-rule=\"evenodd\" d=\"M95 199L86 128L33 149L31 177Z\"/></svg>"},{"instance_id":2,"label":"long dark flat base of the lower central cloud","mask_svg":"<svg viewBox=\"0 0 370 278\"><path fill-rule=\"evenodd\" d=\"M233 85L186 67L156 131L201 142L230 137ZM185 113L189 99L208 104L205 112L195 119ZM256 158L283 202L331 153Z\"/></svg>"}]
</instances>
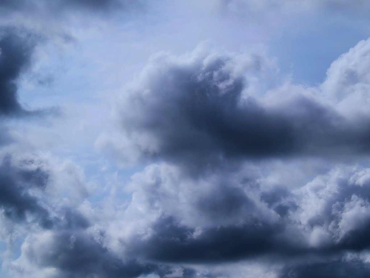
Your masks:
<instances>
[{"instance_id":1,"label":"long dark flat base of the lower central cloud","mask_svg":"<svg viewBox=\"0 0 370 278\"><path fill-rule=\"evenodd\" d=\"M205 228L200 235L194 235L195 229L164 216L152 227L151 238L131 244L136 255L161 262L238 261L274 252L279 247L284 254L279 238L282 228L254 219L246 224Z\"/></svg>"}]
</instances>

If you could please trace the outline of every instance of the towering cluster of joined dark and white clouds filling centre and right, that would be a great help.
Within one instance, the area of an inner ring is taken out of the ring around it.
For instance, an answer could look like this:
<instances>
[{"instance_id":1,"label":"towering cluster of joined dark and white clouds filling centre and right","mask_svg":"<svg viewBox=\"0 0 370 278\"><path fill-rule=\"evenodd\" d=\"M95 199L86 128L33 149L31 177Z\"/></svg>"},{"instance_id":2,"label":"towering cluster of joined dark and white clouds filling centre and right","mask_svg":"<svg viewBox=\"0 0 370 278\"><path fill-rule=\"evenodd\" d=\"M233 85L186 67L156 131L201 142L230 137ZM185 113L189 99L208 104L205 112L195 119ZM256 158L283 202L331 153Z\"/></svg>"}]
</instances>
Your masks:
<instances>
[{"instance_id":1,"label":"towering cluster of joined dark and white clouds filling centre and right","mask_svg":"<svg viewBox=\"0 0 370 278\"><path fill-rule=\"evenodd\" d=\"M369 45L339 57L317 87L278 81L261 53L151 60L117 101L121 134L97 141L119 159L156 162L132 177L132 202L108 241L161 263L260 259L281 277L339 264L338 277L368 273L370 171L350 161L369 150ZM322 160L332 166L320 174L274 176Z\"/></svg>"}]
</instances>

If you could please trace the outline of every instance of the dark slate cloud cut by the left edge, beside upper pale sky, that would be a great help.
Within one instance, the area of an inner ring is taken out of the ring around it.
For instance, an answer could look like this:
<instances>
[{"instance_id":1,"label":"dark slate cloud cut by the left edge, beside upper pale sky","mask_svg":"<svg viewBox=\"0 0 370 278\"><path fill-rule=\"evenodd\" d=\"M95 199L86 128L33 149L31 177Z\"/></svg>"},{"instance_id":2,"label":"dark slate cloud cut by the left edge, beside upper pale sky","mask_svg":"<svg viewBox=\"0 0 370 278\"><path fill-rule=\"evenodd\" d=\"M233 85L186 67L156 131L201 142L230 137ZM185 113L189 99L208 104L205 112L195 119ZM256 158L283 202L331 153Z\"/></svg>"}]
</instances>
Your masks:
<instances>
[{"instance_id":1,"label":"dark slate cloud cut by the left edge, beside upper pale sky","mask_svg":"<svg viewBox=\"0 0 370 278\"><path fill-rule=\"evenodd\" d=\"M25 113L17 90L19 77L30 65L36 45L31 34L13 28L0 30L0 114Z\"/></svg>"}]
</instances>

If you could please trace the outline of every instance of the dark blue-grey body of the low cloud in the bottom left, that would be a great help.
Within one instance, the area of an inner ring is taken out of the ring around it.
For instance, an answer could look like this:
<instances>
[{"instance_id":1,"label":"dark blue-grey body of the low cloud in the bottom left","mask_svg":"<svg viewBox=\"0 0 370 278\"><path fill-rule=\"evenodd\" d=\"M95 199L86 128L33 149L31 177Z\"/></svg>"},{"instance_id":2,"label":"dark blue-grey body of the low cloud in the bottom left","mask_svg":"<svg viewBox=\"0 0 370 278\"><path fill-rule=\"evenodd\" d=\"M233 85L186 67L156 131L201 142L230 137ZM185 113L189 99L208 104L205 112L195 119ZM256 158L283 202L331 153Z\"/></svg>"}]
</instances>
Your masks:
<instances>
[{"instance_id":1,"label":"dark blue-grey body of the low cloud in the bottom left","mask_svg":"<svg viewBox=\"0 0 370 278\"><path fill-rule=\"evenodd\" d=\"M39 239L39 240L42 240ZM27 246L26 254L40 267L54 267L63 277L138 277L157 271L155 265L140 264L136 260L122 261L101 242L83 232L55 232L38 245Z\"/></svg>"}]
</instances>

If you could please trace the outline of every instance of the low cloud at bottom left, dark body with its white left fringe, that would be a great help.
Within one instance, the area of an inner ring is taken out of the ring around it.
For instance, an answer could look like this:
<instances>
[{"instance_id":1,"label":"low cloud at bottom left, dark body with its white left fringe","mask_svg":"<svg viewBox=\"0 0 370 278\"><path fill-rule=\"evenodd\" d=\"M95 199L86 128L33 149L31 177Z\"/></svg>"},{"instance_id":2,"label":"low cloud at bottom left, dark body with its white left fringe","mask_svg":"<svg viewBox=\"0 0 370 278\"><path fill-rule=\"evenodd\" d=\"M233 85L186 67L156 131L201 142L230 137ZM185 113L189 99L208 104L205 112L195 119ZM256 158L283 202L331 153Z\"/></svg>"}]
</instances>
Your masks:
<instances>
[{"instance_id":1,"label":"low cloud at bottom left, dark body with its white left fringe","mask_svg":"<svg viewBox=\"0 0 370 278\"><path fill-rule=\"evenodd\" d=\"M13 268L20 277L139 277L158 269L135 260L122 261L99 239L97 235L75 230L30 236L22 245L22 256L13 262ZM33 276L35 270L40 276Z\"/></svg>"}]
</instances>

